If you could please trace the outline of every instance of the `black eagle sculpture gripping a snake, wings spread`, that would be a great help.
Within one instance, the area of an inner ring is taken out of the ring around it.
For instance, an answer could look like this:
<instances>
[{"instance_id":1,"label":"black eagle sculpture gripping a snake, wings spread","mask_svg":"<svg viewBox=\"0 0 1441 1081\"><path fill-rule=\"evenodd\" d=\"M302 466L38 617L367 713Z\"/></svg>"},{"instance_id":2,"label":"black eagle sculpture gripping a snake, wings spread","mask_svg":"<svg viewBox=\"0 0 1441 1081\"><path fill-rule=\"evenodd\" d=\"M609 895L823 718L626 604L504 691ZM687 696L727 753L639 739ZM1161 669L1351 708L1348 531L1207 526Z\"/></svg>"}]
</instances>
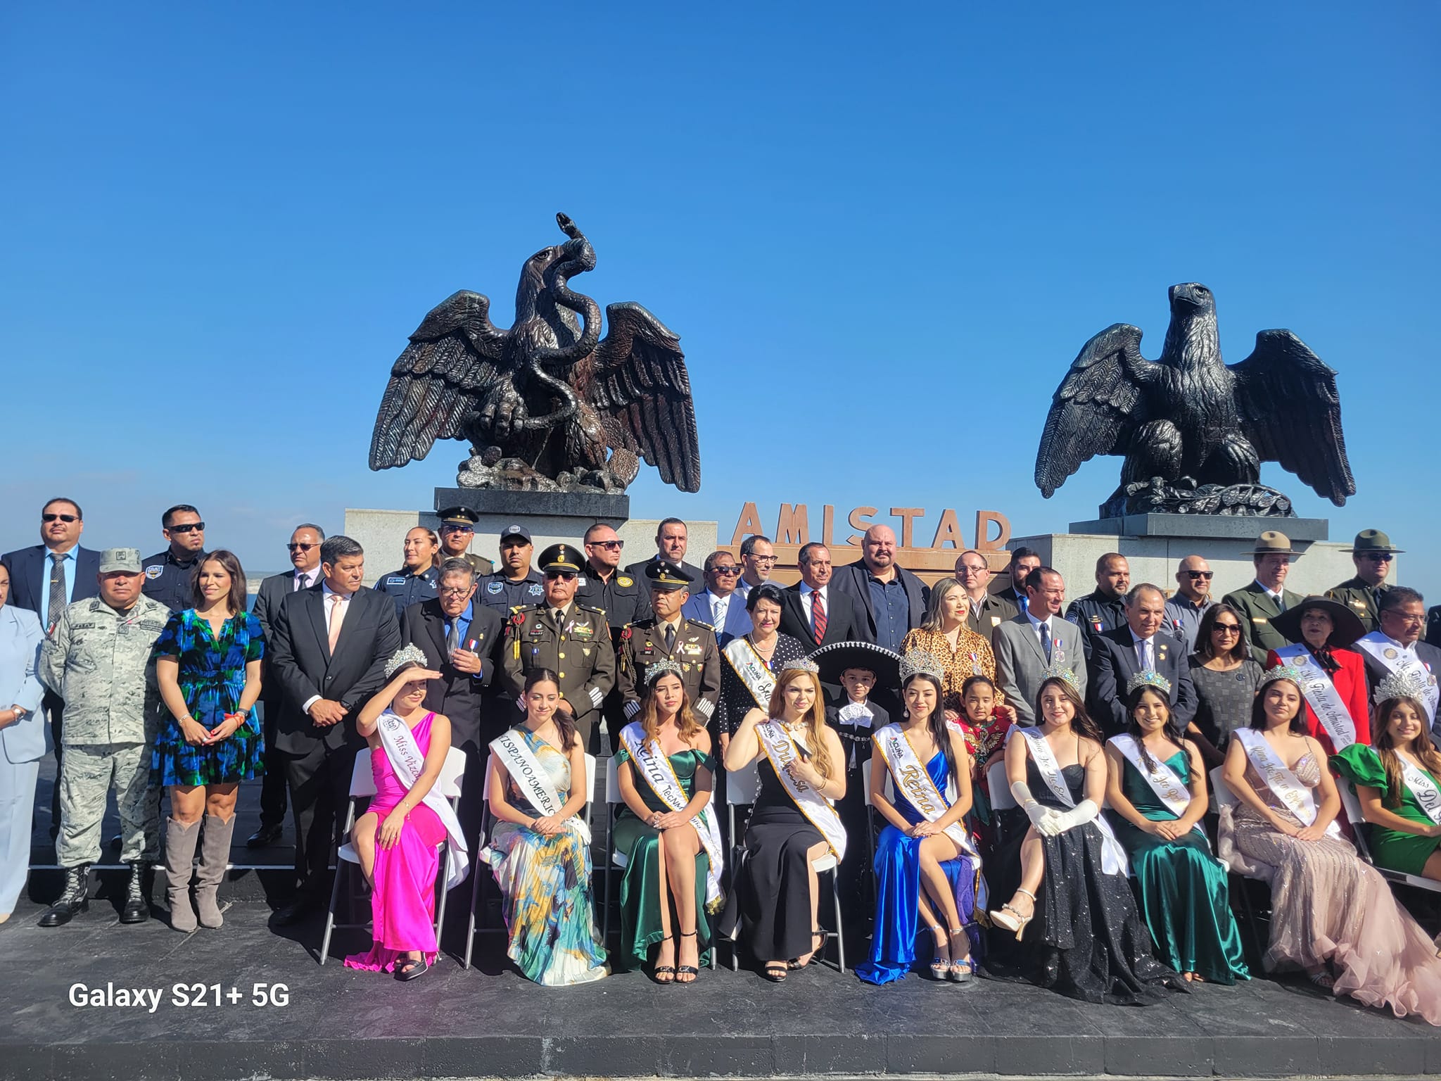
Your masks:
<instances>
[{"instance_id":1,"label":"black eagle sculpture gripping a snake, wings spread","mask_svg":"<svg viewBox=\"0 0 1441 1081\"><path fill-rule=\"evenodd\" d=\"M595 268L571 239L520 268L516 321L461 290L431 310L391 369L370 437L370 468L418 461L437 440L468 440L461 487L624 491L640 458L682 491L700 489L700 447L680 339L640 304L601 310L569 280Z\"/></svg>"}]
</instances>

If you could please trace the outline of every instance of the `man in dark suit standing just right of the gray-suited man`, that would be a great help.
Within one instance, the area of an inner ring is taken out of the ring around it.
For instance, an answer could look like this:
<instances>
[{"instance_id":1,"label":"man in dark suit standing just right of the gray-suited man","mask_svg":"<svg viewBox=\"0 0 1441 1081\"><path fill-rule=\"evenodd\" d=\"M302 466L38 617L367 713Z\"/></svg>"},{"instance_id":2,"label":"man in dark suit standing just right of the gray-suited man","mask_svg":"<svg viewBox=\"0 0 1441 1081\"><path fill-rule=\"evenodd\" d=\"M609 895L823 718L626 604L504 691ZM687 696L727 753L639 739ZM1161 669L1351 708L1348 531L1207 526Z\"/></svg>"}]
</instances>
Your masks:
<instances>
[{"instance_id":1,"label":"man in dark suit standing just right of the gray-suited man","mask_svg":"<svg viewBox=\"0 0 1441 1081\"><path fill-rule=\"evenodd\" d=\"M1125 731L1125 685L1150 669L1172 685L1170 711L1176 726L1196 716L1196 688L1185 644L1166 628L1166 594L1141 582L1125 595L1125 623L1091 636L1091 716L1107 735Z\"/></svg>"}]
</instances>

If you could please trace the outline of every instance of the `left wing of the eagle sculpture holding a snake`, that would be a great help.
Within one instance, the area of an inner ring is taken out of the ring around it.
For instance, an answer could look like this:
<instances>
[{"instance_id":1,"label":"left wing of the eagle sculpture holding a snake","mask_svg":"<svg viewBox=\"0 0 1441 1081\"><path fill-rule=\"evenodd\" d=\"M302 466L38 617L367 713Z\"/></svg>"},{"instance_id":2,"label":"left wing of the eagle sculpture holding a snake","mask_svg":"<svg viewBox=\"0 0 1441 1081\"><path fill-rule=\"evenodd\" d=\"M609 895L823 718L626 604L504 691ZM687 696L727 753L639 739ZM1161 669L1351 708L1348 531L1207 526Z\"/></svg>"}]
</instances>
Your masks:
<instances>
[{"instance_id":1,"label":"left wing of the eagle sculpture holding a snake","mask_svg":"<svg viewBox=\"0 0 1441 1081\"><path fill-rule=\"evenodd\" d=\"M480 293L461 290L431 308L391 369L370 435L370 468L419 461L435 440L461 435L476 399L500 376L506 337Z\"/></svg>"}]
</instances>

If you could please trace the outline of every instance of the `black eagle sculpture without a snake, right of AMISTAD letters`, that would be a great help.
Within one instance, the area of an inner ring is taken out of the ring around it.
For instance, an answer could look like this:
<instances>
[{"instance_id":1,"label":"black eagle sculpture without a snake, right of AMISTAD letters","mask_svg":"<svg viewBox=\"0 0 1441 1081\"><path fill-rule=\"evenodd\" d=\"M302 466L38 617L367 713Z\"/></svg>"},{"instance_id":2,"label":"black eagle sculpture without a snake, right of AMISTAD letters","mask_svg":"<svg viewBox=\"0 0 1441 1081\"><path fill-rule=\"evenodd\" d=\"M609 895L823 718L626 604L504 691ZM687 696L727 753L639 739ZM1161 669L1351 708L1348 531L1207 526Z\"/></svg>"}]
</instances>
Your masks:
<instances>
[{"instance_id":1,"label":"black eagle sculpture without a snake, right of AMISTAD letters","mask_svg":"<svg viewBox=\"0 0 1441 1081\"><path fill-rule=\"evenodd\" d=\"M1102 516L1290 513L1290 500L1259 486L1262 461L1281 463L1336 506L1356 494L1336 372L1290 330L1262 330L1251 356L1223 363L1205 285L1172 285L1170 310L1159 360L1141 356L1141 332L1127 323L1081 349L1036 453L1048 499L1097 454L1125 455Z\"/></svg>"}]
</instances>

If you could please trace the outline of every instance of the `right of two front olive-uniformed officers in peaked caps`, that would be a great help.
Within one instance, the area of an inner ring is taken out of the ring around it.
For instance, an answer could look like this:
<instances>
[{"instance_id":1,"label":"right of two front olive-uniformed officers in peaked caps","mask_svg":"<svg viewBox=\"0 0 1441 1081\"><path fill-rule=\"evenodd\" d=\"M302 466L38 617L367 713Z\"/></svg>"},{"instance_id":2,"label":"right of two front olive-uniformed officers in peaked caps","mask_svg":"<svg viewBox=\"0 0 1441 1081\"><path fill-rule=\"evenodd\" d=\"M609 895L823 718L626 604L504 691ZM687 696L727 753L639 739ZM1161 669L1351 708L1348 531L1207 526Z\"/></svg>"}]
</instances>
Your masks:
<instances>
[{"instance_id":1,"label":"right of two front olive-uniformed officers in peaked caps","mask_svg":"<svg viewBox=\"0 0 1441 1081\"><path fill-rule=\"evenodd\" d=\"M720 647L709 623L687 620L680 614L695 579L664 559L646 564L646 579L650 582L650 605L656 615L625 627L617 650L625 719L633 721L640 712L646 669L657 660L669 659L680 664L680 682L686 685L686 698L690 699L696 718L709 725L720 698ZM611 742L617 738L618 734L612 734Z\"/></svg>"}]
</instances>

